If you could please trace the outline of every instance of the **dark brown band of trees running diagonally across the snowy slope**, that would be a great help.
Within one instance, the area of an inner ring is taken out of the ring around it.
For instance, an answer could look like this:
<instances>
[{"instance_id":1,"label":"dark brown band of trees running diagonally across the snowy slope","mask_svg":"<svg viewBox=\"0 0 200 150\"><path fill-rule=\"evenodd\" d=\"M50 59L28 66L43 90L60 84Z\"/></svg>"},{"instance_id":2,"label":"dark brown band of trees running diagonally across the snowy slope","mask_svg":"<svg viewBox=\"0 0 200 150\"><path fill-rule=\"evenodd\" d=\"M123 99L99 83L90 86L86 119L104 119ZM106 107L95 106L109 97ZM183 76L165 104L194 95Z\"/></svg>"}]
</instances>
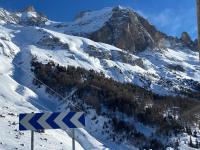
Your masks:
<instances>
[{"instance_id":1,"label":"dark brown band of trees running diagonally across the snowy slope","mask_svg":"<svg viewBox=\"0 0 200 150\"><path fill-rule=\"evenodd\" d=\"M76 87L76 96L95 108L99 115L105 113L103 108L106 107L111 112L121 112L144 125L156 127L157 134L167 136L184 131L191 133L190 127L199 123L196 115L200 109L194 109L200 107L198 101L159 96L133 84L120 83L106 78L103 73L80 67L66 68L54 62L42 64L36 59L33 59L32 66L36 78L63 96L66 96L66 91ZM38 86L42 84L38 80L33 82ZM47 92L51 93L48 89ZM112 123L116 131L129 129L127 133L130 133L134 129L117 118L113 118Z\"/></svg>"}]
</instances>

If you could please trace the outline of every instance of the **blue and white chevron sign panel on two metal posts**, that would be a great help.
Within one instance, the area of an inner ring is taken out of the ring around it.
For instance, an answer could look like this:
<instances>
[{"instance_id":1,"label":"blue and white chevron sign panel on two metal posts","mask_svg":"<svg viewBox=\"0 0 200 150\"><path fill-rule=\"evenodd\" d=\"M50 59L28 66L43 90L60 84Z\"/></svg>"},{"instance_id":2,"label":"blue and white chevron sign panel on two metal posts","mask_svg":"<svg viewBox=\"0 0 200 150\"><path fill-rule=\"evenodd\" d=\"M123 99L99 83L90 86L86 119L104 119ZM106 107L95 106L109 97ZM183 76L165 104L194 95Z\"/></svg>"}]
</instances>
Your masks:
<instances>
[{"instance_id":1,"label":"blue and white chevron sign panel on two metal posts","mask_svg":"<svg viewBox=\"0 0 200 150\"><path fill-rule=\"evenodd\" d=\"M19 115L19 130L84 128L84 112L45 112Z\"/></svg>"}]
</instances>

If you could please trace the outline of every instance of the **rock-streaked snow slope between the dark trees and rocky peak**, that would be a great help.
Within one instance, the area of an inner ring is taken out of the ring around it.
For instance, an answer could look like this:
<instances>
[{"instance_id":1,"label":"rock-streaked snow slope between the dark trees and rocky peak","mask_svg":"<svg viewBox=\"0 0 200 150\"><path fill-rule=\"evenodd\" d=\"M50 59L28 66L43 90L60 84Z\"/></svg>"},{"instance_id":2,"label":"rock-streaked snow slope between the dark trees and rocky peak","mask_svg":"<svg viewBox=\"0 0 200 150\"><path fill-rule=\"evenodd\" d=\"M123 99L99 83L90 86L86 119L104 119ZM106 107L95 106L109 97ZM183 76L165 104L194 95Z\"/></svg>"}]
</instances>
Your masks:
<instances>
[{"instance_id":1,"label":"rock-streaked snow slope between the dark trees and rocky peak","mask_svg":"<svg viewBox=\"0 0 200 150\"><path fill-rule=\"evenodd\" d=\"M52 30L38 28L45 34L37 41L57 43L30 46L31 53L40 53L40 61L53 60L60 65L80 66L103 72L120 82L131 82L160 95L179 94L187 90L199 90L200 67L198 52L186 48L146 50L138 56L116 47L91 40L69 36ZM37 34L38 35L38 34ZM57 45L67 45L59 47ZM49 49L54 47L53 51ZM47 50L48 49L48 50Z\"/></svg>"}]
</instances>

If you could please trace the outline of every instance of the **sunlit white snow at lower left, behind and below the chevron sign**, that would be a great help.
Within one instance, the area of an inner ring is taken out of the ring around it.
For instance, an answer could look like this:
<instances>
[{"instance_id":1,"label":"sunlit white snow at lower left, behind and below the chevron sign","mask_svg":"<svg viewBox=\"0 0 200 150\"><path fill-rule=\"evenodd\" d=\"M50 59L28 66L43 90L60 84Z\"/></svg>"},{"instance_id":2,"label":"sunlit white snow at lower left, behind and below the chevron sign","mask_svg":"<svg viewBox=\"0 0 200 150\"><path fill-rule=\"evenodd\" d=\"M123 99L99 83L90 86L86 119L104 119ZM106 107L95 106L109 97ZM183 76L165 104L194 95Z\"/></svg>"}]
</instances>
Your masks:
<instances>
[{"instance_id":1,"label":"sunlit white snow at lower left, behind and below the chevron sign","mask_svg":"<svg viewBox=\"0 0 200 150\"><path fill-rule=\"evenodd\" d=\"M30 131L18 130L18 114L39 112L28 101L37 99L29 88L18 84L12 78L11 59L0 55L0 149L30 149ZM77 149L83 149L76 142ZM35 149L71 149L71 138L64 131L48 130L35 134Z\"/></svg>"}]
</instances>

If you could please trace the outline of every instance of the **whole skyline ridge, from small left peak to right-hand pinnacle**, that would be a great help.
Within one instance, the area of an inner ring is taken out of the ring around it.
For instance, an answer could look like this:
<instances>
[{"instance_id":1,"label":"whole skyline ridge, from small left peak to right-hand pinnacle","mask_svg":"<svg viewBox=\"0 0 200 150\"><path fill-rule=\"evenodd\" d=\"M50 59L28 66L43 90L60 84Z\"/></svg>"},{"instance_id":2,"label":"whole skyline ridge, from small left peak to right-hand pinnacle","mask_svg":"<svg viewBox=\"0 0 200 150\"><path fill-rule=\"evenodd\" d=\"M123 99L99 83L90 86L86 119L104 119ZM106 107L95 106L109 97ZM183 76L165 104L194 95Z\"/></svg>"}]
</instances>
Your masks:
<instances>
[{"instance_id":1,"label":"whole skyline ridge, from small left peak to right-hand pinnacle","mask_svg":"<svg viewBox=\"0 0 200 150\"><path fill-rule=\"evenodd\" d=\"M81 14L81 15L80 15ZM58 28L63 27L66 34L89 38L97 42L114 45L130 52L140 52L147 48L155 48L163 40L171 44L181 43L192 50L197 50L197 41L183 40L185 33L180 38L168 36L156 29L147 19L142 17L132 8L114 6L101 10L84 11L78 14L73 22L56 23ZM92 18L93 17L93 18ZM30 26L43 26L52 23L42 13L38 13L33 6L9 13L1 9L1 18L10 23L19 23ZM122 24L122 25L119 25ZM118 25L117 25L118 24ZM116 26L117 25L117 26ZM121 32L121 33L118 33ZM132 37L132 38L130 38Z\"/></svg>"}]
</instances>

